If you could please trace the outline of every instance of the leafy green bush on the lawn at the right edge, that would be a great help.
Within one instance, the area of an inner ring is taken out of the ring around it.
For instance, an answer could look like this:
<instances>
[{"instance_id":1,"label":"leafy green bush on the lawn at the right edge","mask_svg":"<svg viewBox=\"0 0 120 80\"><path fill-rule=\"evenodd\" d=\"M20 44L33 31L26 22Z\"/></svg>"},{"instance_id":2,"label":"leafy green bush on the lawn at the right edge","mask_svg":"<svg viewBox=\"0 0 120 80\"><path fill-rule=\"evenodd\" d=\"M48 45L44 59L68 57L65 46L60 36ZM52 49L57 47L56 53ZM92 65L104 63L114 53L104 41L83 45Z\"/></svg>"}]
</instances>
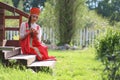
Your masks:
<instances>
[{"instance_id":1,"label":"leafy green bush on the lawn at the right edge","mask_svg":"<svg viewBox=\"0 0 120 80\"><path fill-rule=\"evenodd\" d=\"M95 49L97 58L105 69L103 80L120 79L120 30L109 28L96 39Z\"/></svg>"}]
</instances>

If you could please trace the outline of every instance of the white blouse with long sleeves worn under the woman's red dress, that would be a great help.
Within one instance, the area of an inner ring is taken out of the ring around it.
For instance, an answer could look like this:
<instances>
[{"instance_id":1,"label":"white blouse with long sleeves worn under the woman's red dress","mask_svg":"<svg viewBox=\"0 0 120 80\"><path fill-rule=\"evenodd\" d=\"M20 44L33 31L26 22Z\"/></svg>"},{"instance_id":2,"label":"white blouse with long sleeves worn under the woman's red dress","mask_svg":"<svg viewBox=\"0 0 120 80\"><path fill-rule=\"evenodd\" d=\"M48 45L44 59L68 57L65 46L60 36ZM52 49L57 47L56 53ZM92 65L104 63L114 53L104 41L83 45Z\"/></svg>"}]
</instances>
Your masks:
<instances>
[{"instance_id":1,"label":"white blouse with long sleeves worn under the woman's red dress","mask_svg":"<svg viewBox=\"0 0 120 80\"><path fill-rule=\"evenodd\" d=\"M33 28L35 30L37 30L38 26L39 25L36 24L36 23L31 24L31 28ZM41 27L39 27L39 30L37 30L37 32L38 32L37 37L38 37L39 41L41 41L41 37L42 37L42 29L41 29ZM20 26L20 37L21 38L24 37L25 34L26 34L26 22L22 22L21 26Z\"/></svg>"}]
</instances>

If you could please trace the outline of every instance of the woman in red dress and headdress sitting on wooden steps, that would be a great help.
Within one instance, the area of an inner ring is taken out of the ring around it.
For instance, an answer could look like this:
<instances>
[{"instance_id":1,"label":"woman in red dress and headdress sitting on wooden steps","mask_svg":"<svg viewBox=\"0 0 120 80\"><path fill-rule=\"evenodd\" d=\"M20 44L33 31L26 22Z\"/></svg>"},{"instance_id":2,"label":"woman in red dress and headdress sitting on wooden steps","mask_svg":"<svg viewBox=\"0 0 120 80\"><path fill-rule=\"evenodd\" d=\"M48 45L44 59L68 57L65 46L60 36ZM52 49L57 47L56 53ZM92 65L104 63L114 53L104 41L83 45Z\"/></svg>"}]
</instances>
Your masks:
<instances>
[{"instance_id":1,"label":"woman in red dress and headdress sitting on wooden steps","mask_svg":"<svg viewBox=\"0 0 120 80\"><path fill-rule=\"evenodd\" d=\"M39 8L32 8L28 22L23 22L20 26L22 52L36 55L37 60L56 60L55 57L48 56L47 47L41 44L41 28L36 24L39 14Z\"/></svg>"}]
</instances>

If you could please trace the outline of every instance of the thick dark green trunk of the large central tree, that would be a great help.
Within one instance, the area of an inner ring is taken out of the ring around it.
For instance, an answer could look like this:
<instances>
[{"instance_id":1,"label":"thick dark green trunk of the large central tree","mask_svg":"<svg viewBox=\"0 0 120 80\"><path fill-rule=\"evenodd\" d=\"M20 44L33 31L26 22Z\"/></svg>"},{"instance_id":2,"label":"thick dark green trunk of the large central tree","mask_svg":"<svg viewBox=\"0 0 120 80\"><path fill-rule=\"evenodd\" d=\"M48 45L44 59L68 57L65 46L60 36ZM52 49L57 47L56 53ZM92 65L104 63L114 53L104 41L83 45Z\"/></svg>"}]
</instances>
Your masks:
<instances>
[{"instance_id":1,"label":"thick dark green trunk of the large central tree","mask_svg":"<svg viewBox=\"0 0 120 80\"><path fill-rule=\"evenodd\" d=\"M76 12L84 6L84 0L57 0L59 44L70 44L76 26Z\"/></svg>"}]
</instances>

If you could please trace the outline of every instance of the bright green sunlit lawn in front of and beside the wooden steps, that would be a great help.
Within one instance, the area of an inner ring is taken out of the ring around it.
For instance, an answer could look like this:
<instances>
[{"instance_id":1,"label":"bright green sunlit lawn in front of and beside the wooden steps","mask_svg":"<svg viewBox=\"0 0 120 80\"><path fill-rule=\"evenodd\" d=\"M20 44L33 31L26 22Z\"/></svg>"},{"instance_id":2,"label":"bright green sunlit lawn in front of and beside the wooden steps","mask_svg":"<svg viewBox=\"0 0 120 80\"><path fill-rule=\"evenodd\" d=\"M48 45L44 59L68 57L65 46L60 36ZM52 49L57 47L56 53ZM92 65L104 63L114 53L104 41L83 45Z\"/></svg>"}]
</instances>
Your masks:
<instances>
[{"instance_id":1,"label":"bright green sunlit lawn in front of and beside the wooden steps","mask_svg":"<svg viewBox=\"0 0 120 80\"><path fill-rule=\"evenodd\" d=\"M95 59L93 49L58 51L49 50L57 57L54 73L33 73L30 69L3 67L0 64L0 80L102 80L102 64Z\"/></svg>"}]
</instances>

